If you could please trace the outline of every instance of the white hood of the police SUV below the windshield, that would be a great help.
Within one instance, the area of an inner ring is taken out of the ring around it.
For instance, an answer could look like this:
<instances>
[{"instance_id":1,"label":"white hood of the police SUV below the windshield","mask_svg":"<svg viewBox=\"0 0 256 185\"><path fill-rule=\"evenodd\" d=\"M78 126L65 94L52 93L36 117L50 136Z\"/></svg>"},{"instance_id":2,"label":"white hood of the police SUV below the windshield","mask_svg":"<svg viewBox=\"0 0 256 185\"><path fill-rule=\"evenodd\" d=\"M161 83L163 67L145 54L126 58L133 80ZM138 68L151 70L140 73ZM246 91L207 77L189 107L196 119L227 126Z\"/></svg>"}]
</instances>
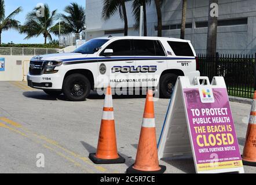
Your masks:
<instances>
[{"instance_id":1,"label":"white hood of the police SUV below the windshield","mask_svg":"<svg viewBox=\"0 0 256 185\"><path fill-rule=\"evenodd\" d=\"M60 60L61 61L61 60L70 59L70 58L85 58L87 56L88 54L81 54L81 53L57 53L57 54L46 54L43 56L35 56L31 58L31 60L36 60L36 61Z\"/></svg>"}]
</instances>

